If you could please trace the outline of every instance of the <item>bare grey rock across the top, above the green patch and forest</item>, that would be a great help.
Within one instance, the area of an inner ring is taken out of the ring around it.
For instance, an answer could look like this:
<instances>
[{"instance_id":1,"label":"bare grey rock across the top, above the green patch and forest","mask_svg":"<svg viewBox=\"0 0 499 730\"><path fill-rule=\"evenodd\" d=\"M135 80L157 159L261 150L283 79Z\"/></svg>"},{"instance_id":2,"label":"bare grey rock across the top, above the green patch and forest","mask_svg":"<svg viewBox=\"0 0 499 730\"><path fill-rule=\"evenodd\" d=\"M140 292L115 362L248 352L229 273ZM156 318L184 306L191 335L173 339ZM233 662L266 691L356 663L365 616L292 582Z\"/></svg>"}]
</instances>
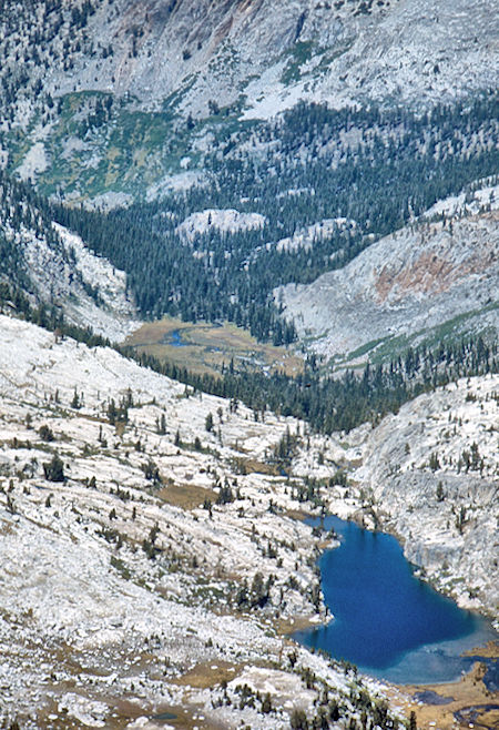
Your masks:
<instances>
[{"instance_id":1,"label":"bare grey rock across the top, above the green patch and forest","mask_svg":"<svg viewBox=\"0 0 499 730\"><path fill-rule=\"evenodd\" d=\"M241 97L268 116L297 98L418 105L497 80L492 0L93 0L83 20L70 3L33 6L3 11L0 57L19 75L14 42L28 80L55 97L111 91L149 109L176 93L203 115Z\"/></svg>"}]
</instances>

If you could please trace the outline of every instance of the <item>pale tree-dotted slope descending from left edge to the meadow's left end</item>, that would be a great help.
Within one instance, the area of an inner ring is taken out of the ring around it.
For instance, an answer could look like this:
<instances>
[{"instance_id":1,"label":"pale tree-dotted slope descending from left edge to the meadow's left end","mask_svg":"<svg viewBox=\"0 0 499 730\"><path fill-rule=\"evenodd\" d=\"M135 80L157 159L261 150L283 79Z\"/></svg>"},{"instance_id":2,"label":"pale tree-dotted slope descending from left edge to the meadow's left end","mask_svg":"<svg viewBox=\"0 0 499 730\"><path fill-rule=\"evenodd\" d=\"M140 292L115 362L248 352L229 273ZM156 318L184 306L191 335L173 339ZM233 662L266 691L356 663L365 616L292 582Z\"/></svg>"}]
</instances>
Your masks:
<instances>
[{"instance_id":1,"label":"pale tree-dotted slope descending from left edge to the meadow's left end","mask_svg":"<svg viewBox=\"0 0 499 730\"><path fill-rule=\"evenodd\" d=\"M126 275L52 221L47 202L0 173L0 281L31 305L118 342L139 325Z\"/></svg>"}]
</instances>

